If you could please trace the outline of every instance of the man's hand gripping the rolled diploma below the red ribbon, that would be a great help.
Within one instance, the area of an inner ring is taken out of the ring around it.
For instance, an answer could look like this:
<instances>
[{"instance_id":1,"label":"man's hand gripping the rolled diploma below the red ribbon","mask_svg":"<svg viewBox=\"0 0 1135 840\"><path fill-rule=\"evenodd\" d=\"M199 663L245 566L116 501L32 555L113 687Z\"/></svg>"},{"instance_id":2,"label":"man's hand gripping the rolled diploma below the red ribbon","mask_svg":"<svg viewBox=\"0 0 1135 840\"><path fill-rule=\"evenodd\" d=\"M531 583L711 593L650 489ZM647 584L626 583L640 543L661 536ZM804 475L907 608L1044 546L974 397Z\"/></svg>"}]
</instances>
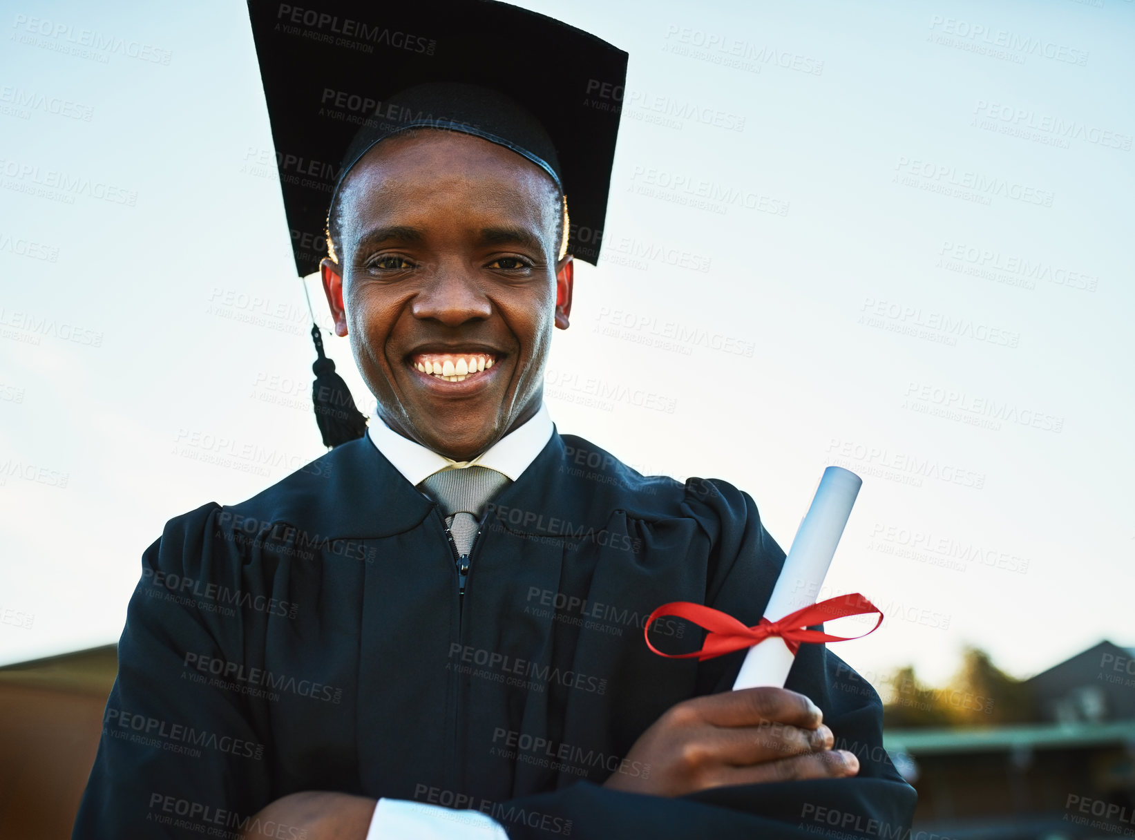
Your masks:
<instances>
[{"instance_id":1,"label":"man's hand gripping the rolled diploma below the red ribbon","mask_svg":"<svg viewBox=\"0 0 1135 840\"><path fill-rule=\"evenodd\" d=\"M726 784L833 779L859 772L854 753L832 749L832 730L807 697L783 688L746 688L672 706L634 741L605 788L683 796Z\"/></svg>"}]
</instances>

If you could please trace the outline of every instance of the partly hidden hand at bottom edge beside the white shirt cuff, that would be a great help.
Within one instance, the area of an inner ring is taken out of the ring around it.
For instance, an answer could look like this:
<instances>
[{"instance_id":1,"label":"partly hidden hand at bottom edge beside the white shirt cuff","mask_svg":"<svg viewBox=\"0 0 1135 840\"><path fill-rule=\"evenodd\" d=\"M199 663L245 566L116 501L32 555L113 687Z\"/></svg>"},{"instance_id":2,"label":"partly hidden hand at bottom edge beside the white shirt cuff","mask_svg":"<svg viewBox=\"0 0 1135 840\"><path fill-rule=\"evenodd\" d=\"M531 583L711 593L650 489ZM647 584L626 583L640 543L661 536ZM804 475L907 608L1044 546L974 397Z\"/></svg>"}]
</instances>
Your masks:
<instances>
[{"instance_id":1,"label":"partly hidden hand at bottom edge beside the white shirt cuff","mask_svg":"<svg viewBox=\"0 0 1135 840\"><path fill-rule=\"evenodd\" d=\"M305 790L269 803L249 821L241 840L365 840L378 800L329 790Z\"/></svg>"}]
</instances>

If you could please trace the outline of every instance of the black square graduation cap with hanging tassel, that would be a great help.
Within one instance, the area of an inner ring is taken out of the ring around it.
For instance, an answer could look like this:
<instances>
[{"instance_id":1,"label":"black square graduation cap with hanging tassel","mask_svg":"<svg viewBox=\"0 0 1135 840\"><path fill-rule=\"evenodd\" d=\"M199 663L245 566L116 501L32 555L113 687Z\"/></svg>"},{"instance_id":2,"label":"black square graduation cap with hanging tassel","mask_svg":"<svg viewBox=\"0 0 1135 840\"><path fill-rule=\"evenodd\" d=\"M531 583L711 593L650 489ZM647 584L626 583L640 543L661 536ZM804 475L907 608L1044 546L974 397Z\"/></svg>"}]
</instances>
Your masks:
<instances>
[{"instance_id":1,"label":"black square graduation cap with hanging tassel","mask_svg":"<svg viewBox=\"0 0 1135 840\"><path fill-rule=\"evenodd\" d=\"M543 168L571 211L568 250L595 264L603 238L627 53L494 0L249 0L296 271L328 255L338 186L382 138L445 128ZM312 327L317 421L327 446L361 437Z\"/></svg>"}]
</instances>

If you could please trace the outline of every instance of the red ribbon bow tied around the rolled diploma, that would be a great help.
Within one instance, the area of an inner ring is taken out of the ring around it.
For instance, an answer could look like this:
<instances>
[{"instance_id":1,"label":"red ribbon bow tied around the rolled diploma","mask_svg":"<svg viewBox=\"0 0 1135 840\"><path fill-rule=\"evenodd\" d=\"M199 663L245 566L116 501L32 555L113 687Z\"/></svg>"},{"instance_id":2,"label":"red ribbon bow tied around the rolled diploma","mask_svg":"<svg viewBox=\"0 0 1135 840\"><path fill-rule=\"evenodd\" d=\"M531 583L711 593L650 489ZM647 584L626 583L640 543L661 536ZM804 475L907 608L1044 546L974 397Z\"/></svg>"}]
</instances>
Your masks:
<instances>
[{"instance_id":1,"label":"red ribbon bow tied around the rolled diploma","mask_svg":"<svg viewBox=\"0 0 1135 840\"><path fill-rule=\"evenodd\" d=\"M878 621L875 627L859 636L831 636L819 630L809 630L809 624L818 624L831 619L843 619L848 615L867 615L878 613ZM665 654L650 644L650 624L655 619L663 615L675 615L679 619L689 619L704 630L708 630L705 642L700 650L689 654ZM794 613L789 613L780 621L768 621L762 619L756 627L746 627L721 610L714 610L704 604L693 604L689 600L674 600L663 604L646 620L642 628L642 636L646 638L647 647L659 656L670 660L689 660L697 656L698 660L712 660L715 656L753 647L757 642L764 641L770 636L779 636L788 645L788 649L793 654L799 649L801 641L850 641L861 639L864 636L875 632L883 623L883 611L867 600L859 593L851 595L840 595L835 598L821 600L818 604L810 604Z\"/></svg>"}]
</instances>

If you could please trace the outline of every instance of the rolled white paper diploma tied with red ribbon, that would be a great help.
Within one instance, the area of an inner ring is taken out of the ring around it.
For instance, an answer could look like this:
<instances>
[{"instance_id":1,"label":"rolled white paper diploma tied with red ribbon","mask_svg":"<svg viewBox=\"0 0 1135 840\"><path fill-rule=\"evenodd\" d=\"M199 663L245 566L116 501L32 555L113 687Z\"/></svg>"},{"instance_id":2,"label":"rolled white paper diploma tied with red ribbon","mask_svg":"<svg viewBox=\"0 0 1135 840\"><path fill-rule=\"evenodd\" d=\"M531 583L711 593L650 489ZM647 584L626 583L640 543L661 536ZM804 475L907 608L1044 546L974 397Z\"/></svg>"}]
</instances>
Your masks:
<instances>
[{"instance_id":1,"label":"rolled white paper diploma tied with red ribbon","mask_svg":"<svg viewBox=\"0 0 1135 840\"><path fill-rule=\"evenodd\" d=\"M861 478L842 467L824 470L812 506L784 557L784 566L765 607L766 619L779 621L815 603L861 485ZM793 658L783 639L776 636L765 639L749 648L733 688L781 687Z\"/></svg>"}]
</instances>

